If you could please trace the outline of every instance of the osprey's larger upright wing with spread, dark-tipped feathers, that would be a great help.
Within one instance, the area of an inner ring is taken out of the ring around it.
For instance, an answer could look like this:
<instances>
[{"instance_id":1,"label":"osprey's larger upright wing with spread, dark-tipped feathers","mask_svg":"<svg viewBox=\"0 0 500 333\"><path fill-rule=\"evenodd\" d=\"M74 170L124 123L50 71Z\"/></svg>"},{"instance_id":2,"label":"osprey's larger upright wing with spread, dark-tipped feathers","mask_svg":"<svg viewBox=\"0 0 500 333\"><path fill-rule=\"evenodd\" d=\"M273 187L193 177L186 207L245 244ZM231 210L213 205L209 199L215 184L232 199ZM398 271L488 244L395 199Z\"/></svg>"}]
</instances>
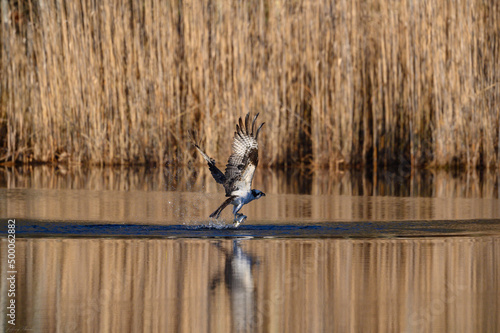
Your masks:
<instances>
[{"instance_id":1,"label":"osprey's larger upright wing with spread, dark-tipped feathers","mask_svg":"<svg viewBox=\"0 0 500 333\"><path fill-rule=\"evenodd\" d=\"M255 121L259 114L253 118L250 128L250 114L245 117L243 124L241 117L239 126L236 124L236 132L233 140L233 153L226 165L226 196L231 196L235 191L250 191L253 175L259 163L259 145L257 138L264 123L256 130Z\"/></svg>"}]
</instances>

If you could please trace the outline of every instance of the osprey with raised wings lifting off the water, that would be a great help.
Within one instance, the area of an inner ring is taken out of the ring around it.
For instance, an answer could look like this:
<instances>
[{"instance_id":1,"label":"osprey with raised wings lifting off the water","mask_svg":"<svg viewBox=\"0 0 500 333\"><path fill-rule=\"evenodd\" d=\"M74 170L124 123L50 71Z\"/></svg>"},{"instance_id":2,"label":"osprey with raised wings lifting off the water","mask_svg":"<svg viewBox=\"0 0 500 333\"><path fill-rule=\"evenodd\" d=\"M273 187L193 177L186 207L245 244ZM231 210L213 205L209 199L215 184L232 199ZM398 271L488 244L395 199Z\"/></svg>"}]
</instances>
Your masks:
<instances>
[{"instance_id":1,"label":"osprey with raised wings lifting off the water","mask_svg":"<svg viewBox=\"0 0 500 333\"><path fill-rule=\"evenodd\" d=\"M256 130L255 121L258 116L259 114L257 113L253 118L251 127L249 126L250 114L246 115L244 124L240 117L239 125L236 124L236 132L234 132L233 153L229 157L225 173L222 173L215 166L215 160L208 157L192 138L194 146L207 161L208 168L215 181L224 186L226 197L228 197L210 217L218 219L224 208L232 204L234 206L234 225L236 227L247 218L246 215L238 213L241 207L252 200L266 195L259 190L251 189L253 175L259 163L259 145L257 139L260 129L264 125L264 123L260 124Z\"/></svg>"}]
</instances>

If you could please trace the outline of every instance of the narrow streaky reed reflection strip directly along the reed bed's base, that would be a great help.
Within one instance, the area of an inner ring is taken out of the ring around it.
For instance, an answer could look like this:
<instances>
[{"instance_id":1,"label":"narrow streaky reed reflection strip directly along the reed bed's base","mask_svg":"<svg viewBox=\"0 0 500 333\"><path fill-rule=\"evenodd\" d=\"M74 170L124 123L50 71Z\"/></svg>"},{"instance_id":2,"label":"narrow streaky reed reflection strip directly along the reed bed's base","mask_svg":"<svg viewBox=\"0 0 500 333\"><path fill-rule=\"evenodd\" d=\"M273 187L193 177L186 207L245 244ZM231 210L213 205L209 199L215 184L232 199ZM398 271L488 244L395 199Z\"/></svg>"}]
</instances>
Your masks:
<instances>
[{"instance_id":1,"label":"narrow streaky reed reflection strip directly along the reed bed's base","mask_svg":"<svg viewBox=\"0 0 500 333\"><path fill-rule=\"evenodd\" d=\"M254 182L270 194L499 198L499 173L477 171L451 173L404 169L332 172L328 170L262 169ZM216 185L216 184L215 184ZM0 188L83 189L113 191L194 191L215 193L210 173L201 166L82 167L19 166L0 167Z\"/></svg>"}]
</instances>

